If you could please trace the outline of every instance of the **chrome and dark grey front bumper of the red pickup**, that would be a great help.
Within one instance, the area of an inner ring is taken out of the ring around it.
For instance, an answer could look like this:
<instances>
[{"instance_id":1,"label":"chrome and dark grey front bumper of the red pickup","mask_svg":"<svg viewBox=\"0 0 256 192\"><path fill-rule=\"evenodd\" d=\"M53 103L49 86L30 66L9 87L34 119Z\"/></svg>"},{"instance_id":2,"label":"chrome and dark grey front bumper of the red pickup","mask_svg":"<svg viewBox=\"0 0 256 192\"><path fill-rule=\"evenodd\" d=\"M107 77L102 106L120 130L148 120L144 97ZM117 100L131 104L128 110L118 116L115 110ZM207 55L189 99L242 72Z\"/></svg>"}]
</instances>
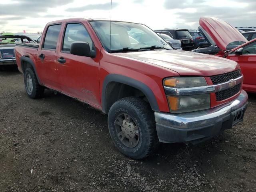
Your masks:
<instances>
[{"instance_id":1,"label":"chrome and dark grey front bumper of the red pickup","mask_svg":"<svg viewBox=\"0 0 256 192\"><path fill-rule=\"evenodd\" d=\"M230 129L243 120L248 104L244 90L235 100L221 106L182 114L155 112L158 139L164 143L198 143Z\"/></svg>"}]
</instances>

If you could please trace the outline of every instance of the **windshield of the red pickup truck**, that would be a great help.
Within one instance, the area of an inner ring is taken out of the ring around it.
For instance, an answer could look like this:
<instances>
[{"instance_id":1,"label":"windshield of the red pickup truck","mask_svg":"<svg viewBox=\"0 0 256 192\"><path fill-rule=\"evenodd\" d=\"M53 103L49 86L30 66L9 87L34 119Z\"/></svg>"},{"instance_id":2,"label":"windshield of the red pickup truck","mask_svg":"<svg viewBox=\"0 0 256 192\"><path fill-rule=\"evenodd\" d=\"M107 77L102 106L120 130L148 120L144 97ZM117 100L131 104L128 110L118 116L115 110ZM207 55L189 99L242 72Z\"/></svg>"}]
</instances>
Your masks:
<instances>
[{"instance_id":1,"label":"windshield of the red pickup truck","mask_svg":"<svg viewBox=\"0 0 256 192\"><path fill-rule=\"evenodd\" d=\"M90 24L100 39L106 51L122 50L123 48L142 49L155 46L172 50L154 31L142 24L128 22L111 22L110 50L110 21L91 21Z\"/></svg>"}]
</instances>

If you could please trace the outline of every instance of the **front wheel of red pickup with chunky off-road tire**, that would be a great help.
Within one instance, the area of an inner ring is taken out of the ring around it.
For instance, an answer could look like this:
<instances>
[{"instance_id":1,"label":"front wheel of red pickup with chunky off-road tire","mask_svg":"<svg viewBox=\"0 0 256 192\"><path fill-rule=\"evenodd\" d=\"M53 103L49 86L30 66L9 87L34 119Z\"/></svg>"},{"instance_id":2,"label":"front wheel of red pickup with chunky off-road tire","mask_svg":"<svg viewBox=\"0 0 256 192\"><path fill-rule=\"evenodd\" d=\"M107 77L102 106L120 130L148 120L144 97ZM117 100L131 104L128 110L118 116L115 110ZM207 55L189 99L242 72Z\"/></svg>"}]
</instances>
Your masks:
<instances>
[{"instance_id":1,"label":"front wheel of red pickup with chunky off-road tire","mask_svg":"<svg viewBox=\"0 0 256 192\"><path fill-rule=\"evenodd\" d=\"M118 150L130 158L143 159L158 144L154 112L139 98L115 102L108 113L108 129Z\"/></svg>"}]
</instances>

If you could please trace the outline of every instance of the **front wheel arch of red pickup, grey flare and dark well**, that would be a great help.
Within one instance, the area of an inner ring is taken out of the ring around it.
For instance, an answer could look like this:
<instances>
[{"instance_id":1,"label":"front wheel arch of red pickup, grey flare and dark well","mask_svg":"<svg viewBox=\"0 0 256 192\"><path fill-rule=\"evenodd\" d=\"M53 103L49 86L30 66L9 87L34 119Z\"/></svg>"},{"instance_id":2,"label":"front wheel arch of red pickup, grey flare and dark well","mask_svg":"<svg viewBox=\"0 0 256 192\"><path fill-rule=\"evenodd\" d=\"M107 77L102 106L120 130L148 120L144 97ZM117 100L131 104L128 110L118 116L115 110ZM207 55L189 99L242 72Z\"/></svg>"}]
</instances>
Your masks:
<instances>
[{"instance_id":1,"label":"front wheel arch of red pickup, grey flare and dark well","mask_svg":"<svg viewBox=\"0 0 256 192\"><path fill-rule=\"evenodd\" d=\"M144 95L152 110L159 111L156 97L146 84L127 76L109 74L104 79L102 88L102 112L108 114L114 102L128 96L135 96L134 94L142 97Z\"/></svg>"}]
</instances>

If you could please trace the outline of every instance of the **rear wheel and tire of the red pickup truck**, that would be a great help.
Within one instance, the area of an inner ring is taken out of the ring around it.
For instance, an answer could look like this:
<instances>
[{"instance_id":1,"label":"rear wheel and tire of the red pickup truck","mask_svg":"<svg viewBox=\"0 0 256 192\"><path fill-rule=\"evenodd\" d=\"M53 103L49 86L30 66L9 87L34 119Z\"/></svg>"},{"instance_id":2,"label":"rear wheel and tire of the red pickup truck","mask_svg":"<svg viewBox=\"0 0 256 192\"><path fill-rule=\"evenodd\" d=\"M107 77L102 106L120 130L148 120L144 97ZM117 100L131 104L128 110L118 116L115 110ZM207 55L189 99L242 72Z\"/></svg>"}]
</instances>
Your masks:
<instances>
[{"instance_id":1,"label":"rear wheel and tire of the red pickup truck","mask_svg":"<svg viewBox=\"0 0 256 192\"><path fill-rule=\"evenodd\" d=\"M44 95L44 87L40 86L36 78L36 73L32 68L26 68L24 73L25 89L32 99L41 98Z\"/></svg>"}]
</instances>

